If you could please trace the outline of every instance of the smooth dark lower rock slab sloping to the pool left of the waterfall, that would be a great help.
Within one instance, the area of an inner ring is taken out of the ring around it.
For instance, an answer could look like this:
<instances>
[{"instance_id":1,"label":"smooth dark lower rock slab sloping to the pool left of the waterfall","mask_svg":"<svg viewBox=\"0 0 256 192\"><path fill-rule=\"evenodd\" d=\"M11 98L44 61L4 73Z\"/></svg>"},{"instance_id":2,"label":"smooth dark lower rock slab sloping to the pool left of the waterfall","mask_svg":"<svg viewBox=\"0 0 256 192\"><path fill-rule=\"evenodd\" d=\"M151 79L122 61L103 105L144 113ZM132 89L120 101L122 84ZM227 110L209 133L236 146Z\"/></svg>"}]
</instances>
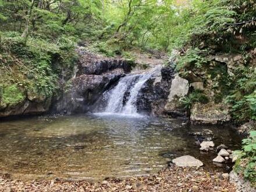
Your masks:
<instances>
[{"instance_id":1,"label":"smooth dark lower rock slab sloping to the pool left of the waterfall","mask_svg":"<svg viewBox=\"0 0 256 192\"><path fill-rule=\"evenodd\" d=\"M87 112L93 104L115 84L123 73L104 75L82 75L72 81L72 88L63 94L62 98L54 106L55 112L79 113Z\"/></svg>"}]
</instances>

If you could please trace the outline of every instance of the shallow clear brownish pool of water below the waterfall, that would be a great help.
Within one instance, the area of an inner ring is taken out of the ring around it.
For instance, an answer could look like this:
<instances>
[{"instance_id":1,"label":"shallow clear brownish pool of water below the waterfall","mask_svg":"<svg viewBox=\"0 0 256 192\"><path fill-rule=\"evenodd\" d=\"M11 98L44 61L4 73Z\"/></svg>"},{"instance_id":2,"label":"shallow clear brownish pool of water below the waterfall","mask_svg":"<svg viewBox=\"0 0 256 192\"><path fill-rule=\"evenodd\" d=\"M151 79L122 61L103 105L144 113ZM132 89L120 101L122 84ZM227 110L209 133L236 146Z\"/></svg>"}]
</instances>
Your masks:
<instances>
[{"instance_id":1,"label":"shallow clear brownish pool of water below the waterfall","mask_svg":"<svg viewBox=\"0 0 256 192\"><path fill-rule=\"evenodd\" d=\"M186 126L181 119L92 114L42 116L0 122L0 172L20 179L104 179L156 173L180 155L193 155L205 169L215 152L201 153L189 133L214 131L214 143L232 150L240 137L223 126Z\"/></svg>"}]
</instances>

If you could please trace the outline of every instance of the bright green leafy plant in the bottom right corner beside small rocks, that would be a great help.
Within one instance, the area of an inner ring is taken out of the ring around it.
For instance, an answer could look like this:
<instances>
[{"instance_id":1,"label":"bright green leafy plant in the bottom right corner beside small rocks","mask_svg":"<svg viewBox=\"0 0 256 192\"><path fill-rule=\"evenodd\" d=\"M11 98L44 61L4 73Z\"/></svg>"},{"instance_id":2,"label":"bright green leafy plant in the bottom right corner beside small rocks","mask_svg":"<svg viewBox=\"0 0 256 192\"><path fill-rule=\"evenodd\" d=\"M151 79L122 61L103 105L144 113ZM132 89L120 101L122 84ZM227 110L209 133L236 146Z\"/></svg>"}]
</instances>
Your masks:
<instances>
[{"instance_id":1,"label":"bright green leafy plant in the bottom right corner beside small rocks","mask_svg":"<svg viewBox=\"0 0 256 192\"><path fill-rule=\"evenodd\" d=\"M245 179L256 185L256 131L250 131L250 136L243 140L241 151L235 151L237 161L235 170Z\"/></svg>"}]
</instances>

